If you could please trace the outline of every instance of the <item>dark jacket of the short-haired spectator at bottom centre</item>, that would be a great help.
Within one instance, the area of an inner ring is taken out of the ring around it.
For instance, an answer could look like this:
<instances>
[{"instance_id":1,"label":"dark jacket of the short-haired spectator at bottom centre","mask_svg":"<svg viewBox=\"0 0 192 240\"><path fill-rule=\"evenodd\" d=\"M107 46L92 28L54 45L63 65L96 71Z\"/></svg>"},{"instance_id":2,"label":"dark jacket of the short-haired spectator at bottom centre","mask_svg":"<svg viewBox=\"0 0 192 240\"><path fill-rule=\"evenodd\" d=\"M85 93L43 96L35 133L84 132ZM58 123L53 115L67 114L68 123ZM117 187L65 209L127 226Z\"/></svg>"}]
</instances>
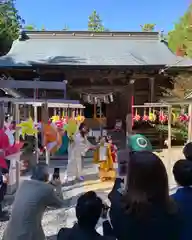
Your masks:
<instances>
[{"instance_id":1,"label":"dark jacket of the short-haired spectator at bottom centre","mask_svg":"<svg viewBox=\"0 0 192 240\"><path fill-rule=\"evenodd\" d=\"M95 229L85 230L75 224L72 228L61 228L57 240L115 240L115 238L101 236Z\"/></svg>"}]
</instances>

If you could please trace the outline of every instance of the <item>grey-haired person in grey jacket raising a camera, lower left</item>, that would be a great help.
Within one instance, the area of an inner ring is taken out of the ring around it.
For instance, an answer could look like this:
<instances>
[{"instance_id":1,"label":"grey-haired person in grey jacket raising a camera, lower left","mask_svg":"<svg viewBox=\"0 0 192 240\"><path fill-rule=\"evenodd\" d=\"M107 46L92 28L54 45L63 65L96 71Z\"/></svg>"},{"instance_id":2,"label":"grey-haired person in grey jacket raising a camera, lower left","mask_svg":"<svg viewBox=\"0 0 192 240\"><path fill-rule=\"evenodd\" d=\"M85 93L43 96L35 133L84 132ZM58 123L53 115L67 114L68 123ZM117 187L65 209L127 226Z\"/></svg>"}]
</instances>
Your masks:
<instances>
[{"instance_id":1,"label":"grey-haired person in grey jacket raising a camera, lower left","mask_svg":"<svg viewBox=\"0 0 192 240\"><path fill-rule=\"evenodd\" d=\"M33 169L31 180L24 180L16 192L12 214L4 231L3 240L45 240L41 226L47 207L62 207L54 187L49 184L47 164Z\"/></svg>"}]
</instances>

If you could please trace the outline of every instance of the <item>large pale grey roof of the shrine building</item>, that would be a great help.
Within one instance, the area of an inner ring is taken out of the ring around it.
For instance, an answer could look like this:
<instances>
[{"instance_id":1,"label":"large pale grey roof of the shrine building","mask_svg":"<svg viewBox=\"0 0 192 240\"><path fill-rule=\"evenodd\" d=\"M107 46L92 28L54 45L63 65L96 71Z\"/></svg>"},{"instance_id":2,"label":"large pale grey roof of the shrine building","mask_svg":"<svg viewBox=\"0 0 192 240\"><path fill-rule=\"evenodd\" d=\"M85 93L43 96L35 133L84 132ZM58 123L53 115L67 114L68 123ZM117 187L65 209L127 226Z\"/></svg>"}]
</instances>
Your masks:
<instances>
[{"instance_id":1,"label":"large pale grey roof of the shrine building","mask_svg":"<svg viewBox=\"0 0 192 240\"><path fill-rule=\"evenodd\" d=\"M80 33L33 32L27 40L14 41L10 52L0 58L0 67L33 64L144 66L177 62L158 33L98 33L94 36L89 32Z\"/></svg>"}]
</instances>

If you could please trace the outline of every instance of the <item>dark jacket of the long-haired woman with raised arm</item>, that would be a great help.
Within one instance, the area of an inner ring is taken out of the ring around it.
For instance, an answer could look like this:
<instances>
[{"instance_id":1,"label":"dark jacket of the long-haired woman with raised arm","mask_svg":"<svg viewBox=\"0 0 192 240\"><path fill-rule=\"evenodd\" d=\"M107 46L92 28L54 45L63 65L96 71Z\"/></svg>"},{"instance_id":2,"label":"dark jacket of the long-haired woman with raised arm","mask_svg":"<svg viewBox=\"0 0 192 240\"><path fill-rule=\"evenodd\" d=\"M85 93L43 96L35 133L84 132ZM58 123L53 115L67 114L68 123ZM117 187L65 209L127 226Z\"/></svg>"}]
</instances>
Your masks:
<instances>
[{"instance_id":1,"label":"dark jacket of the long-haired woman with raised arm","mask_svg":"<svg viewBox=\"0 0 192 240\"><path fill-rule=\"evenodd\" d=\"M180 220L178 214L168 214L160 206L152 206L150 218L138 220L122 208L122 194L118 191L121 179L116 179L109 194L110 219L113 233L118 240L179 240ZM104 229L105 231L105 229Z\"/></svg>"}]
</instances>

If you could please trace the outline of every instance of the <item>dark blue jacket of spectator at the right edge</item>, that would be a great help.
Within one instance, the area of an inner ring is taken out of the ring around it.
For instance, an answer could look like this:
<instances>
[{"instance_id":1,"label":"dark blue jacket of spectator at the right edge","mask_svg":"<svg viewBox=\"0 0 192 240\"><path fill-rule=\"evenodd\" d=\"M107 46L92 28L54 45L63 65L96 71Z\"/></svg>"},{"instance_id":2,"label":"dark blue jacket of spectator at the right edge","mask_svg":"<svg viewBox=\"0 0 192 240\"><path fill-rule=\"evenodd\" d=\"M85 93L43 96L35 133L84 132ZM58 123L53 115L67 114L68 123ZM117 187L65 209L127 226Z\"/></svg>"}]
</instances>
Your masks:
<instances>
[{"instance_id":1,"label":"dark blue jacket of spectator at the right edge","mask_svg":"<svg viewBox=\"0 0 192 240\"><path fill-rule=\"evenodd\" d=\"M183 230L181 234L182 240L192 239L192 188L184 187L179 188L172 198L178 204L182 220Z\"/></svg>"}]
</instances>

